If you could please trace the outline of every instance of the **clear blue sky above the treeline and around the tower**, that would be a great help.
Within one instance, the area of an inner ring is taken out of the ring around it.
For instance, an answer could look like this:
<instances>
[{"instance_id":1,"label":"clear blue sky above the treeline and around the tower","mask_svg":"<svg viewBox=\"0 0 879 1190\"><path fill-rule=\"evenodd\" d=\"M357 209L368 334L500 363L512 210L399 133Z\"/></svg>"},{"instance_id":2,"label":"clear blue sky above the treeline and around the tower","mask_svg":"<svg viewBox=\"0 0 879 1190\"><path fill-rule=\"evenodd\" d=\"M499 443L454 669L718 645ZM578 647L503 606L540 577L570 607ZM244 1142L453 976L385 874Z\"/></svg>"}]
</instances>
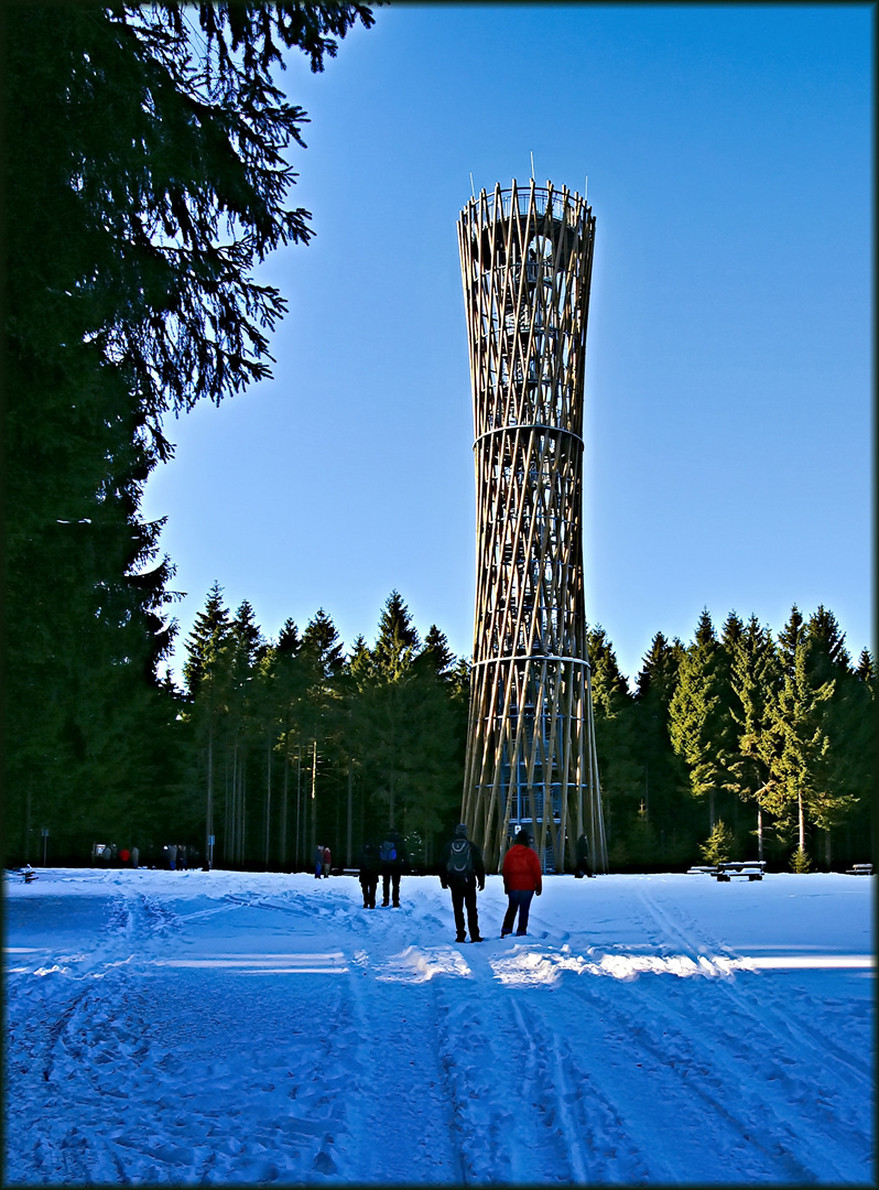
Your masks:
<instances>
[{"instance_id":1,"label":"clear blue sky above the treeline and around the tower","mask_svg":"<svg viewBox=\"0 0 879 1190\"><path fill-rule=\"evenodd\" d=\"M214 580L269 637L347 647L396 588L472 651L472 412L456 220L589 176L586 614L630 678L708 607L792 603L872 644L872 43L865 5L393 5L322 75L293 203L309 246L275 378L168 426L144 512L183 644Z\"/></svg>"}]
</instances>

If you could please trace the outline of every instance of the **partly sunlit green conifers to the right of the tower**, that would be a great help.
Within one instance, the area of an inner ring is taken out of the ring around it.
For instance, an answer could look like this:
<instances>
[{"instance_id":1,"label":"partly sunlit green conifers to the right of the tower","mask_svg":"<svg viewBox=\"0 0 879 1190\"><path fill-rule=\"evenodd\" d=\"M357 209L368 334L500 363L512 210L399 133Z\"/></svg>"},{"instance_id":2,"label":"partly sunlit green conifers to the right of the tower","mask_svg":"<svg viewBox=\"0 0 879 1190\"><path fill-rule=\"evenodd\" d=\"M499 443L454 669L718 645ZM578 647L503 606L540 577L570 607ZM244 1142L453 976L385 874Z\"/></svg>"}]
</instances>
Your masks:
<instances>
[{"instance_id":1,"label":"partly sunlit green conifers to the right of the tower","mask_svg":"<svg viewBox=\"0 0 879 1190\"><path fill-rule=\"evenodd\" d=\"M689 645L657 633L632 691L601 628L589 649L611 870L872 858L874 662L833 613L795 606L773 637L703 612Z\"/></svg>"}]
</instances>

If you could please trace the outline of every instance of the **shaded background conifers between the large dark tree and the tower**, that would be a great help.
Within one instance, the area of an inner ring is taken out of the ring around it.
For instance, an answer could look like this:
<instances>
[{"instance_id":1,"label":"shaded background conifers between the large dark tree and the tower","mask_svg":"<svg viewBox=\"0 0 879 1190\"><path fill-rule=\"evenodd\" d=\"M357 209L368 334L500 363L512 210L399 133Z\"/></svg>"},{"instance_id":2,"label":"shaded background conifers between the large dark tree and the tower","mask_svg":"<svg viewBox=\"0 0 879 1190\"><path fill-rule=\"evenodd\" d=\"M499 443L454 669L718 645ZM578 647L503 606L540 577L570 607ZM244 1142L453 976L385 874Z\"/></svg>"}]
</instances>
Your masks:
<instances>
[{"instance_id":1,"label":"shaded background conifers between the large dark tree and the tower","mask_svg":"<svg viewBox=\"0 0 879 1190\"><path fill-rule=\"evenodd\" d=\"M435 625L420 640L397 591L375 644L345 656L322 609L266 641L214 584L183 676L187 825L214 837L215 863L303 869L322 843L351 864L391 826L433 863L460 813L469 672Z\"/></svg>"}]
</instances>

